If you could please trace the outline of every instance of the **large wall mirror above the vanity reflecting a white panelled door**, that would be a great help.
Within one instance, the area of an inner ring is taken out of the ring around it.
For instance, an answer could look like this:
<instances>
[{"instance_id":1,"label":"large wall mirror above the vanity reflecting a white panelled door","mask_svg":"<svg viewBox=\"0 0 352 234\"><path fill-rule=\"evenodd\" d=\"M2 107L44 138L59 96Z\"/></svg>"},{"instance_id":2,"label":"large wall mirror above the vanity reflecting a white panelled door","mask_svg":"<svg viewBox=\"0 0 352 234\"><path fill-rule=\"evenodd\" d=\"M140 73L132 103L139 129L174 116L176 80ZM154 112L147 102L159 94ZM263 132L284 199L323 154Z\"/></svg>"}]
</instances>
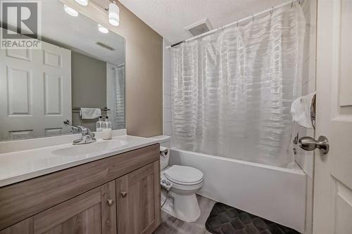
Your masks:
<instances>
[{"instance_id":1,"label":"large wall mirror above the vanity reflecting a white panelled door","mask_svg":"<svg viewBox=\"0 0 352 234\"><path fill-rule=\"evenodd\" d=\"M42 1L41 23L41 49L0 49L0 141L71 134L65 119L96 131L80 108L124 129L125 39L59 0Z\"/></svg>"}]
</instances>

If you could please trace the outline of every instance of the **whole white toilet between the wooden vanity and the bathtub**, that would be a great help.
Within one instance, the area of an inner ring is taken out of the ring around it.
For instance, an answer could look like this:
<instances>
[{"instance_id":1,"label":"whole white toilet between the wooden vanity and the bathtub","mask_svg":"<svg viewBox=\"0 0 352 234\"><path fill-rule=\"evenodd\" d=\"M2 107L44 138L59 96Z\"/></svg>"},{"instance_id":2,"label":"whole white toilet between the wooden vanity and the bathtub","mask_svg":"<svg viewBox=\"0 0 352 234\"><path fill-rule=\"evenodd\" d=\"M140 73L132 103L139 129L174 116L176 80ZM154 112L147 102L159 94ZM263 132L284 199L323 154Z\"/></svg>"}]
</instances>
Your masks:
<instances>
[{"instance_id":1,"label":"whole white toilet between the wooden vanity and the bathtub","mask_svg":"<svg viewBox=\"0 0 352 234\"><path fill-rule=\"evenodd\" d=\"M161 146L170 148L170 136L156 136ZM171 156L172 157L172 156ZM201 216L201 209L196 199L198 192L204 184L203 172L194 167L172 165L168 166L170 154L161 155L161 186L166 198L168 189L168 201L163 206L163 211L186 222L194 222Z\"/></svg>"}]
</instances>

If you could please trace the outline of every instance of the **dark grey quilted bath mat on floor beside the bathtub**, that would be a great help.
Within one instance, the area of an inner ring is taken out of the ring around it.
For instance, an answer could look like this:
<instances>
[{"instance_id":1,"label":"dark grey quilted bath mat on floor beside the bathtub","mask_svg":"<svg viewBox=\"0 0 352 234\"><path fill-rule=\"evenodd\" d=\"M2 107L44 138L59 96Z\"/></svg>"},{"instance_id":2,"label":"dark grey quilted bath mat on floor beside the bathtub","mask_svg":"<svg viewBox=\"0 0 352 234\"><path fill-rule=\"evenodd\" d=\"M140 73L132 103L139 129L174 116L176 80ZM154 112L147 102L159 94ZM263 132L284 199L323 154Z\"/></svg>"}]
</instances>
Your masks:
<instances>
[{"instance_id":1,"label":"dark grey quilted bath mat on floor beside the bathtub","mask_svg":"<svg viewBox=\"0 0 352 234\"><path fill-rule=\"evenodd\" d=\"M299 234L296 230L217 202L206 221L213 234Z\"/></svg>"}]
</instances>

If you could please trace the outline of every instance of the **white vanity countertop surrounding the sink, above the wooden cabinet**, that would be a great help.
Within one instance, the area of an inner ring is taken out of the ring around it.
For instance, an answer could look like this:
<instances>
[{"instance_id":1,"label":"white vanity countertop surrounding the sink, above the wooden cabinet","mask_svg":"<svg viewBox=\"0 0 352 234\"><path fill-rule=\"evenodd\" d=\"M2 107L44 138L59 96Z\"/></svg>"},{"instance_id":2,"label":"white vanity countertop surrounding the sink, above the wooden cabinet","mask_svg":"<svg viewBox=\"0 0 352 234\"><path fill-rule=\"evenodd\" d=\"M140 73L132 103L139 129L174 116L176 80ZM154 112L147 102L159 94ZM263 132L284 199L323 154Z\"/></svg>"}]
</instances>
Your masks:
<instances>
[{"instance_id":1,"label":"white vanity countertop surrounding the sink, above the wooden cabinet","mask_svg":"<svg viewBox=\"0 0 352 234\"><path fill-rule=\"evenodd\" d=\"M158 143L158 139L127 135L115 136L113 139L125 141L125 145L84 155L54 154L55 150L63 148L84 147L84 145L73 146L72 143L0 153L0 187ZM103 140L99 139L97 143L101 141Z\"/></svg>"}]
</instances>

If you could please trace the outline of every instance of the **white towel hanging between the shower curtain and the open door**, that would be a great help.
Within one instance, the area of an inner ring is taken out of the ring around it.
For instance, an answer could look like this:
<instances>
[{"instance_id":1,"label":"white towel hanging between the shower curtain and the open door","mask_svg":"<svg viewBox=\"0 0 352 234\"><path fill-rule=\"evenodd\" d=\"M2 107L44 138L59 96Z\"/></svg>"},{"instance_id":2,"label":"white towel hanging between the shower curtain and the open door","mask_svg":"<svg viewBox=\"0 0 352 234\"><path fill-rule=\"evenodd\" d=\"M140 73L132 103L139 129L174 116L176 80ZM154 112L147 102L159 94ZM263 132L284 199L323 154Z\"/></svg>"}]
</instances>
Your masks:
<instances>
[{"instance_id":1,"label":"white towel hanging between the shower curtain and the open door","mask_svg":"<svg viewBox=\"0 0 352 234\"><path fill-rule=\"evenodd\" d=\"M312 119L310 117L310 108L312 106L314 96L315 92L299 97L294 100L291 105L292 120L307 129L313 129Z\"/></svg>"}]
</instances>

